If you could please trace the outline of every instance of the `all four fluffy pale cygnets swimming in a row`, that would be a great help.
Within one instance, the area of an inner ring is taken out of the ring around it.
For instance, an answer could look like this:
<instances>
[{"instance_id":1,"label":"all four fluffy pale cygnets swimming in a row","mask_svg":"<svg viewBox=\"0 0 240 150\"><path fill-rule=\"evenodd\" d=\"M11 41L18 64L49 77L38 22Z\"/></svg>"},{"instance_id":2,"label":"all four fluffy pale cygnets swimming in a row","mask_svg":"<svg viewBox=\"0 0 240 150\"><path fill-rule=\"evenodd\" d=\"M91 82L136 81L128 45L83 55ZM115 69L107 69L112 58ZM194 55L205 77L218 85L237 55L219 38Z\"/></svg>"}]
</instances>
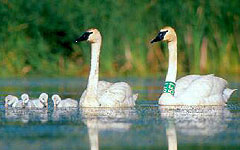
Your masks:
<instances>
[{"instance_id":1,"label":"all four fluffy pale cygnets swimming in a row","mask_svg":"<svg viewBox=\"0 0 240 150\"><path fill-rule=\"evenodd\" d=\"M57 94L52 96L52 101L54 108L56 107L78 107L78 101L67 98L61 99L61 97ZM21 95L21 99L19 100L16 96L8 95L5 97L5 107L16 107L16 108L44 108L48 107L48 94L41 93L39 98L30 99L29 95L24 93Z\"/></svg>"}]
</instances>

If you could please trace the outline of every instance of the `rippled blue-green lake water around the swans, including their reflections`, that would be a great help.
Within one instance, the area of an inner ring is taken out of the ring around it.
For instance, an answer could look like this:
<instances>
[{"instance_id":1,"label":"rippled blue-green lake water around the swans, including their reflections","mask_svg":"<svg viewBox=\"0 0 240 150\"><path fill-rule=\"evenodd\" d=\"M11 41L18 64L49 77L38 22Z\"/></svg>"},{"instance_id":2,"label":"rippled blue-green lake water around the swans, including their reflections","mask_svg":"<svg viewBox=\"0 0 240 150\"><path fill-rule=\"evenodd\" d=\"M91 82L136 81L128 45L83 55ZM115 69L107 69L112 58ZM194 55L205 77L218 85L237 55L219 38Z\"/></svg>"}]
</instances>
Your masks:
<instances>
[{"instance_id":1,"label":"rippled blue-green lake water around the swans, including their reflections","mask_svg":"<svg viewBox=\"0 0 240 150\"><path fill-rule=\"evenodd\" d=\"M4 108L7 94L58 93L79 99L85 79L0 80L0 149L240 149L240 97L225 107L159 107L159 79L125 80L140 97L135 108L43 110ZM239 83L230 87L240 89Z\"/></svg>"}]
</instances>

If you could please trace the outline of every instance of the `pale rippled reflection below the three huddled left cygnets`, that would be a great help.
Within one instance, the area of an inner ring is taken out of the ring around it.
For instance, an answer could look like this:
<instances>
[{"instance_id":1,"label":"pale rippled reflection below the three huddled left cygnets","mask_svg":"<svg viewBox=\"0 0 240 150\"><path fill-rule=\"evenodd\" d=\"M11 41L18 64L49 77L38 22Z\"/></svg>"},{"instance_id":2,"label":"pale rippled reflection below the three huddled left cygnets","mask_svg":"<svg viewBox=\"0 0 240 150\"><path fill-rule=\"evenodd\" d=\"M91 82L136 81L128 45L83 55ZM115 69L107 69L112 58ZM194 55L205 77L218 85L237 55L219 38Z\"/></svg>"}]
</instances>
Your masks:
<instances>
[{"instance_id":1,"label":"pale rippled reflection below the three huddled left cygnets","mask_svg":"<svg viewBox=\"0 0 240 150\"><path fill-rule=\"evenodd\" d=\"M8 121L21 121L28 123L32 121L40 121L45 123L48 121L48 109L25 109L9 107L5 109L5 118Z\"/></svg>"}]
</instances>

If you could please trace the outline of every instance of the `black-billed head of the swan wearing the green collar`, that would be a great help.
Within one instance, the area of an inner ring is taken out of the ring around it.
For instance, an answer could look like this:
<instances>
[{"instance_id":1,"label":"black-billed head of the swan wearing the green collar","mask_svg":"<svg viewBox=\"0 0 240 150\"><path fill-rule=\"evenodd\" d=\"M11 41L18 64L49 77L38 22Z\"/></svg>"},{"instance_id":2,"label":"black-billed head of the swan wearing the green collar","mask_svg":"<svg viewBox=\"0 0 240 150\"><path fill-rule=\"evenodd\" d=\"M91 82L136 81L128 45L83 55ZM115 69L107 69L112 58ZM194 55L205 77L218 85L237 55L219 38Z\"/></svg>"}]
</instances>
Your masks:
<instances>
[{"instance_id":1,"label":"black-billed head of the swan wearing the green collar","mask_svg":"<svg viewBox=\"0 0 240 150\"><path fill-rule=\"evenodd\" d=\"M172 27L162 28L158 35L151 41L151 43L158 41L172 42L177 39L175 30Z\"/></svg>"}]
</instances>

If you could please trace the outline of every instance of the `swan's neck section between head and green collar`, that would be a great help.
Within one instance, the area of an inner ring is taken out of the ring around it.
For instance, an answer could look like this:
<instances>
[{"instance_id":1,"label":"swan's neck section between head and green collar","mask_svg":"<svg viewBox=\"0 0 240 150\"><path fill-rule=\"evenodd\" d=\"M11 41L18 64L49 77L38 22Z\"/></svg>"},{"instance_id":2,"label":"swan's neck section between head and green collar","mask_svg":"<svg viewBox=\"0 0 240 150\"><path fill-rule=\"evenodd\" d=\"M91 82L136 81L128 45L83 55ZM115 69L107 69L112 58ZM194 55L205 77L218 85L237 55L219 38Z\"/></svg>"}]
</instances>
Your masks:
<instances>
[{"instance_id":1,"label":"swan's neck section between head and green collar","mask_svg":"<svg viewBox=\"0 0 240 150\"><path fill-rule=\"evenodd\" d=\"M168 72L165 81L171 81L175 83L177 77L177 40L168 43L168 50Z\"/></svg>"}]
</instances>

